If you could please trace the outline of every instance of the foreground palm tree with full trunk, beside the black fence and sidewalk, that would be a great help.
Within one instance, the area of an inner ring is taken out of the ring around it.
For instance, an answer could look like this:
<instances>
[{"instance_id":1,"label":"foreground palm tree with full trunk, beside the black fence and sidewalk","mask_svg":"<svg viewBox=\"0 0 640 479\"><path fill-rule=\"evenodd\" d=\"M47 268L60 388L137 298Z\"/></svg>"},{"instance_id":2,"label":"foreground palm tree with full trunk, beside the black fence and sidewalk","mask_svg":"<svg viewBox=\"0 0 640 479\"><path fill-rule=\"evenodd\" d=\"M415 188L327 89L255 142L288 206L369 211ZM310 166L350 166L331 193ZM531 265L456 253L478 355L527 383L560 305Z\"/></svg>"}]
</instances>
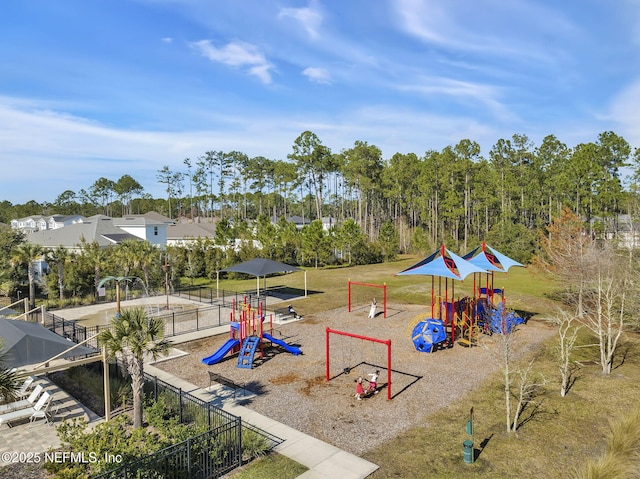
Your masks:
<instances>
[{"instance_id":1,"label":"foreground palm tree with full trunk, beside the black fence and sidewalk","mask_svg":"<svg viewBox=\"0 0 640 479\"><path fill-rule=\"evenodd\" d=\"M164 322L150 317L143 307L126 308L111 320L111 328L98 336L107 355L123 361L131 376L133 391L133 427L142 427L142 387L144 385L144 357L157 359L169 351L164 338Z\"/></svg>"}]
</instances>

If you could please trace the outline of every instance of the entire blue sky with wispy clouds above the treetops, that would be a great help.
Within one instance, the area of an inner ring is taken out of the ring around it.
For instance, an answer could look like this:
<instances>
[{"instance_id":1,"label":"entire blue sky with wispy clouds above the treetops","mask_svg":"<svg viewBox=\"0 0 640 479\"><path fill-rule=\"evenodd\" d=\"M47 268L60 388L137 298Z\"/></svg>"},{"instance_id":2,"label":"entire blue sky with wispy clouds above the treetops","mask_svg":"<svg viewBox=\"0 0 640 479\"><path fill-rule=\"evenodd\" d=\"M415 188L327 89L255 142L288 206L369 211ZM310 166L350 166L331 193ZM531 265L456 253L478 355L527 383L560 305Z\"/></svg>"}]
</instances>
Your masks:
<instances>
[{"instance_id":1,"label":"entire blue sky with wispy clouds above the treetops","mask_svg":"<svg viewBox=\"0 0 640 479\"><path fill-rule=\"evenodd\" d=\"M640 146L640 0L4 0L0 200L53 202L300 133L423 155Z\"/></svg>"}]
</instances>

